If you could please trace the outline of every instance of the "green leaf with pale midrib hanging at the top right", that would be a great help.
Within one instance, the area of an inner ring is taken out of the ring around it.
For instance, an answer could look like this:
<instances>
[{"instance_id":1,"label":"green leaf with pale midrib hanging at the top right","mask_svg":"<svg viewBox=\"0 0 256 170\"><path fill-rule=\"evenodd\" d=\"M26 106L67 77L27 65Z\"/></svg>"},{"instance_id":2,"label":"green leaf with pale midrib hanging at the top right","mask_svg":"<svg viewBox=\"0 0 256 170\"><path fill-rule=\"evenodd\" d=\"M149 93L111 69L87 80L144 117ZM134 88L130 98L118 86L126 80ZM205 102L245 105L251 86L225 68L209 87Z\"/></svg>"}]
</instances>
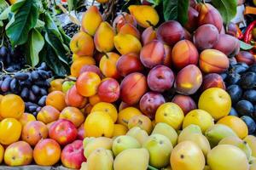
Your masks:
<instances>
[{"instance_id":1,"label":"green leaf with pale midrib hanging at the top right","mask_svg":"<svg viewBox=\"0 0 256 170\"><path fill-rule=\"evenodd\" d=\"M236 16L237 0L212 0L212 4L222 15L225 24Z\"/></svg>"}]
</instances>

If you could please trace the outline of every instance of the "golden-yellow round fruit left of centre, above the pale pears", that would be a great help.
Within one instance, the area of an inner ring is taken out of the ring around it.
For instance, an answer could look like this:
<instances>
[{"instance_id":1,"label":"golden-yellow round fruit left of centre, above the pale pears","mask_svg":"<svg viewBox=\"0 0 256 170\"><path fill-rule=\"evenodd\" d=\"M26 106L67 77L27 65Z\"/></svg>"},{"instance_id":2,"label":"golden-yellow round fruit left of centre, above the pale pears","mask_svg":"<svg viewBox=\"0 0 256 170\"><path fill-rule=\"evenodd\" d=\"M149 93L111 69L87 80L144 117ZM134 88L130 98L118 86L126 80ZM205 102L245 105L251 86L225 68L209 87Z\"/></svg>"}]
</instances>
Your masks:
<instances>
[{"instance_id":1,"label":"golden-yellow round fruit left of centre, above the pale pears","mask_svg":"<svg viewBox=\"0 0 256 170\"><path fill-rule=\"evenodd\" d=\"M84 130L88 137L113 136L113 120L111 116L102 112L95 111L87 116L84 122Z\"/></svg>"}]
</instances>

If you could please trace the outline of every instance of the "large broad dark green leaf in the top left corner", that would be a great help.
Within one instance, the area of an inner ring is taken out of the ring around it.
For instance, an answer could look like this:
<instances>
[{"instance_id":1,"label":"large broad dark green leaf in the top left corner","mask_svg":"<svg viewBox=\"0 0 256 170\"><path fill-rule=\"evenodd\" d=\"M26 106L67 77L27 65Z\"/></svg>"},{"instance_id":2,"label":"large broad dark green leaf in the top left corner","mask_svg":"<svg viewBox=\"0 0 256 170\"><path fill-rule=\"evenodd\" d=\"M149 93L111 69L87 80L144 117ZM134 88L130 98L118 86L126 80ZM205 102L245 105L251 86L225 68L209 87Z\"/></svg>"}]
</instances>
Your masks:
<instances>
[{"instance_id":1,"label":"large broad dark green leaf in the top left corner","mask_svg":"<svg viewBox=\"0 0 256 170\"><path fill-rule=\"evenodd\" d=\"M15 21L6 30L13 46L24 44L27 41L29 31L36 26L38 21L37 0L25 0L17 4L20 4L19 8L12 7L12 10L15 8Z\"/></svg>"}]
</instances>

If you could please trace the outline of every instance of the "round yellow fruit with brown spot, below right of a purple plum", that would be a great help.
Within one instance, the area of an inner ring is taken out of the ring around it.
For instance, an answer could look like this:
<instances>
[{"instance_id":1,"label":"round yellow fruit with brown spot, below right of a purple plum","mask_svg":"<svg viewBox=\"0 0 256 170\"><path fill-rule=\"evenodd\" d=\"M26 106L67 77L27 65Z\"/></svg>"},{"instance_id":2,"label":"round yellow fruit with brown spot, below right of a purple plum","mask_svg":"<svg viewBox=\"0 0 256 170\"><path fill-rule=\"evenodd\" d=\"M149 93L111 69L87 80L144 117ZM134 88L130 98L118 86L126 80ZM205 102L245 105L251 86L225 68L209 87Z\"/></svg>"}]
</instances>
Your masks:
<instances>
[{"instance_id":1,"label":"round yellow fruit with brown spot, below right of a purple plum","mask_svg":"<svg viewBox=\"0 0 256 170\"><path fill-rule=\"evenodd\" d=\"M157 109L155 113L155 122L166 122L175 130L182 126L183 110L176 104L167 102Z\"/></svg>"}]
</instances>

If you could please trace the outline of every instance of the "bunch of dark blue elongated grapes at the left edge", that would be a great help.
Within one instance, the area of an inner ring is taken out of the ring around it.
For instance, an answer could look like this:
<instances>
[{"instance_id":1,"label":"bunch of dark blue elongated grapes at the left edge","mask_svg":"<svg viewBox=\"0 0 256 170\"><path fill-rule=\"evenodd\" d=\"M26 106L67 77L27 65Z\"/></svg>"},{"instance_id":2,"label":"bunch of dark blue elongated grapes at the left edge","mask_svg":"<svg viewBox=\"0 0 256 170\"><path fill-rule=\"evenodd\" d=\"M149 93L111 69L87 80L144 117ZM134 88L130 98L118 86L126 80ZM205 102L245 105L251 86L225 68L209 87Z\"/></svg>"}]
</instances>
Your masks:
<instances>
[{"instance_id":1,"label":"bunch of dark blue elongated grapes at the left edge","mask_svg":"<svg viewBox=\"0 0 256 170\"><path fill-rule=\"evenodd\" d=\"M9 72L3 70L0 76L0 94L17 94L25 101L26 112L37 116L45 105L49 78L52 72L43 62L38 68L27 68Z\"/></svg>"}]
</instances>

